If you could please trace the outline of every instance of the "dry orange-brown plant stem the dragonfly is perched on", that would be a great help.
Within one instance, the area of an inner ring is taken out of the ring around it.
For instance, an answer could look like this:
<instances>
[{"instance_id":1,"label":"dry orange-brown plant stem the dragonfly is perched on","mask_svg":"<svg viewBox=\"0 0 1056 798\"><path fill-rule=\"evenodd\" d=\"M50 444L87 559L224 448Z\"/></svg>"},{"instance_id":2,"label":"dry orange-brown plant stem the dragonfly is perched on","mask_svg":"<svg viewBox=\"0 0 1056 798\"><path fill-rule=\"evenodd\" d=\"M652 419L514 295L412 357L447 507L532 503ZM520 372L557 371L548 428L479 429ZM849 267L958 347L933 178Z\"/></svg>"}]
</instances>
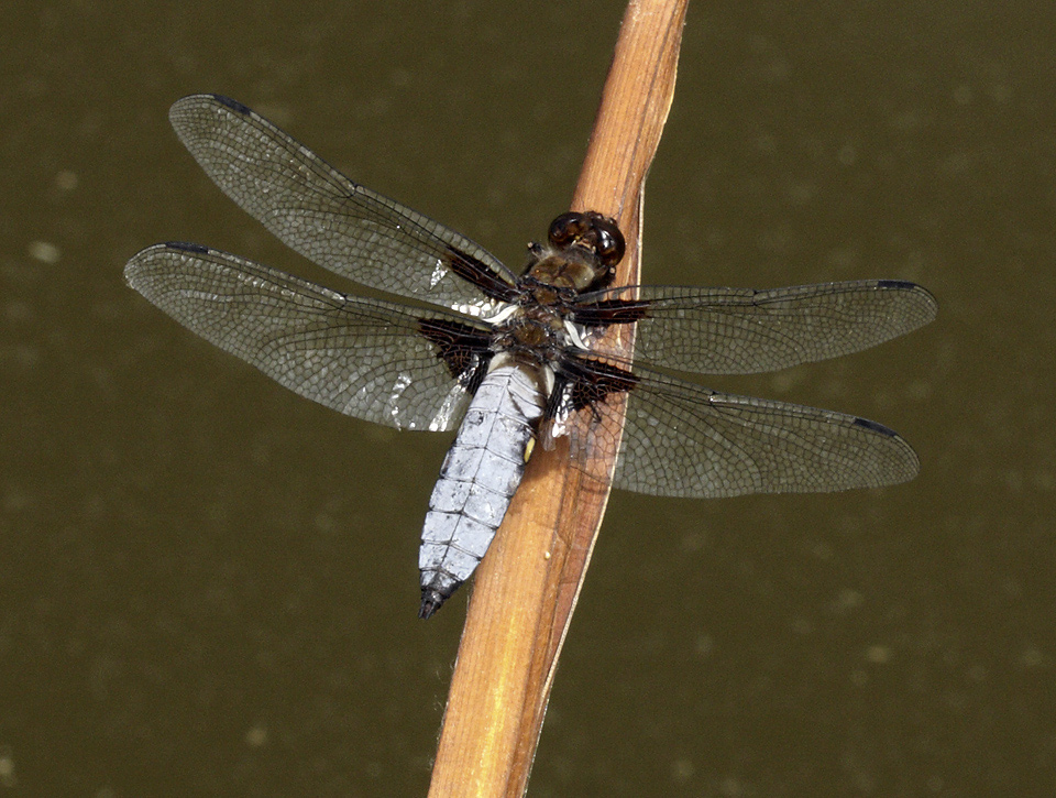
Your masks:
<instances>
[{"instance_id":1,"label":"dry orange-brown plant stem the dragonfly is perched on","mask_svg":"<svg viewBox=\"0 0 1056 798\"><path fill-rule=\"evenodd\" d=\"M627 237L618 284L638 282L641 188L674 94L686 2L629 3L572 200L573 209L613 217ZM630 353L628 331L612 338L610 351ZM619 429L623 407L601 423ZM615 457L602 452L592 473L610 474ZM528 463L477 569L431 798L524 795L607 500L606 479L569 468L566 445L536 451Z\"/></svg>"}]
</instances>

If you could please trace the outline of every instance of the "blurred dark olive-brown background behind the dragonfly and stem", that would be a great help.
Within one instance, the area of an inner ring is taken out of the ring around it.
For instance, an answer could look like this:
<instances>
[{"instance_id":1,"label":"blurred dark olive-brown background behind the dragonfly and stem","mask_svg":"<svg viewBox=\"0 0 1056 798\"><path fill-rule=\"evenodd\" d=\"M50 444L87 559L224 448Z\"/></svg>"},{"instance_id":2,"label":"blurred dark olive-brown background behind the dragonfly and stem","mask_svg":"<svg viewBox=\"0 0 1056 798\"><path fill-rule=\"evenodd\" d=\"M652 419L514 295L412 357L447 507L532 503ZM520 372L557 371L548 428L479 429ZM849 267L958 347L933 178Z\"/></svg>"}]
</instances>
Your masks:
<instances>
[{"instance_id":1,"label":"blurred dark olive-brown background behind the dragonfly and stem","mask_svg":"<svg viewBox=\"0 0 1056 798\"><path fill-rule=\"evenodd\" d=\"M255 108L515 269L619 3L22 3L0 32L0 794L425 795L469 590L416 617L449 436L300 400L123 284L189 240L350 289L228 200ZM644 278L935 293L903 340L707 380L902 433L914 482L614 494L532 796L1056 794L1056 7L697 3Z\"/></svg>"}]
</instances>

